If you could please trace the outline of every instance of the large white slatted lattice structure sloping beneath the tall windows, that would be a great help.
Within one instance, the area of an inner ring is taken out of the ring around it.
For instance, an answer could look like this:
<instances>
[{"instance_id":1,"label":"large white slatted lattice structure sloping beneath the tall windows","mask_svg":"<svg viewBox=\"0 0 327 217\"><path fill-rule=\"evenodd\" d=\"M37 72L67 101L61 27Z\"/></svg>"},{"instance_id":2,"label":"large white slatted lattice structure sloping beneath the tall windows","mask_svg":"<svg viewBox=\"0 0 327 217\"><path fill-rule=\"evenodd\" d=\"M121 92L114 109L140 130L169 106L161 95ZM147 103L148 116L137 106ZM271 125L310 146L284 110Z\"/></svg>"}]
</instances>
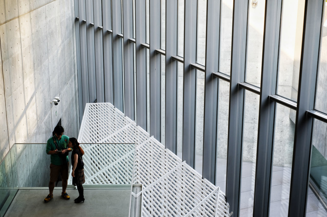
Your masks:
<instances>
[{"instance_id":1,"label":"large white slatted lattice structure sloping beneath the tall windows","mask_svg":"<svg viewBox=\"0 0 327 217\"><path fill-rule=\"evenodd\" d=\"M106 143L82 145L86 182L142 185L139 193L131 192L141 196L142 216L230 216L219 187L110 103L86 105L78 141Z\"/></svg>"}]
</instances>

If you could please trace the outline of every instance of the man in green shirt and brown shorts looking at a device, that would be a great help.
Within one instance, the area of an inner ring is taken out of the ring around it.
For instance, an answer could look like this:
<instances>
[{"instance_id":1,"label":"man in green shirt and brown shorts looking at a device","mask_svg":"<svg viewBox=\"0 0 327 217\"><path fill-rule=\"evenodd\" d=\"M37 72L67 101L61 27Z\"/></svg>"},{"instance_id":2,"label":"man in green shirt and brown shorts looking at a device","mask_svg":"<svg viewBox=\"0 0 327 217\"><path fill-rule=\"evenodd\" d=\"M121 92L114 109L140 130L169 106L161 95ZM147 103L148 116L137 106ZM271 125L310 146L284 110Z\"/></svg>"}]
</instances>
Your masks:
<instances>
[{"instance_id":1,"label":"man in green shirt and brown shorts looking at a device","mask_svg":"<svg viewBox=\"0 0 327 217\"><path fill-rule=\"evenodd\" d=\"M66 200L70 199L69 195L66 193L69 166L68 152L73 149L68 148L69 137L63 135L64 129L62 126L57 125L53 132L55 135L49 138L46 143L46 153L51 154L51 164L49 195L45 197L45 202L48 202L53 198L53 189L55 188L55 182L58 179L59 173L61 174L62 180L61 196Z\"/></svg>"}]
</instances>

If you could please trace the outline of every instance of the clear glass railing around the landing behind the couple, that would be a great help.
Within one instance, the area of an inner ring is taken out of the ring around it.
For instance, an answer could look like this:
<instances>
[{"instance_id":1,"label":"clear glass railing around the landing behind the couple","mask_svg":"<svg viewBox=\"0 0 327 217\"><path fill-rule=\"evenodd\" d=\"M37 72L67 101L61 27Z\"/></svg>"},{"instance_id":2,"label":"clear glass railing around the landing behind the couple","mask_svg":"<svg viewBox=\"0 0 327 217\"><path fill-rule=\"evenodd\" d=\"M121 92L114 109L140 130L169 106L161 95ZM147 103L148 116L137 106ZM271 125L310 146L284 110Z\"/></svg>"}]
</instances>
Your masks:
<instances>
[{"instance_id":1,"label":"clear glass railing around the landing behind the couple","mask_svg":"<svg viewBox=\"0 0 327 217\"><path fill-rule=\"evenodd\" d=\"M134 143L81 143L80 146L85 152L82 158L86 185L130 187ZM0 216L4 215L19 189L49 186L50 155L45 153L45 149L45 143L16 143L0 162ZM68 156L71 162L71 152ZM71 168L70 164L69 171ZM70 174L68 185L72 184Z\"/></svg>"}]
</instances>

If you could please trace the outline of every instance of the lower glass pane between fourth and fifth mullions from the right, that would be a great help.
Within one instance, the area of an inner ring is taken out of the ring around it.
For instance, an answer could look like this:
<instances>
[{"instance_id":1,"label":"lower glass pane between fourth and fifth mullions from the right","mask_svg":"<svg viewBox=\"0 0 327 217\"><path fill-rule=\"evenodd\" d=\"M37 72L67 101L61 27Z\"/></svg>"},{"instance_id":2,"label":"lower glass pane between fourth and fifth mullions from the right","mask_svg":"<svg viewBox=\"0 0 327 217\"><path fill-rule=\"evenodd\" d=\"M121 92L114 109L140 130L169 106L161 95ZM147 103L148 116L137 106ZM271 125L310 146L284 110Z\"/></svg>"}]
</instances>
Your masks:
<instances>
[{"instance_id":1,"label":"lower glass pane between fourth and fifth mullions from the right","mask_svg":"<svg viewBox=\"0 0 327 217\"><path fill-rule=\"evenodd\" d=\"M203 113L204 113L204 72L196 70L196 115L195 115L195 170L202 174L203 165Z\"/></svg>"}]
</instances>

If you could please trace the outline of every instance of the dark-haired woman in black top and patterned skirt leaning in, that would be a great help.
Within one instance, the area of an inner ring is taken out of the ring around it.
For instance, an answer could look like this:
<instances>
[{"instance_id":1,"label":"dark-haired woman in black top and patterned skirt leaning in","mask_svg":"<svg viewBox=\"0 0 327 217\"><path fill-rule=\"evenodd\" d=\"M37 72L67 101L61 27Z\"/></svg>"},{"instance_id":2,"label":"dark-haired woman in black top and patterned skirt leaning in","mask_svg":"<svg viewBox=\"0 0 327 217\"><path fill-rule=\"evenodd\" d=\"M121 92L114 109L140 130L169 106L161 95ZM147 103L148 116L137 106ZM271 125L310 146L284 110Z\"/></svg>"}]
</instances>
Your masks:
<instances>
[{"instance_id":1,"label":"dark-haired woman in black top and patterned skirt leaning in","mask_svg":"<svg viewBox=\"0 0 327 217\"><path fill-rule=\"evenodd\" d=\"M73 148L72 152L72 177L73 185L77 186L79 196L75 199L75 203L84 202L84 189L82 184L85 182L84 178L84 166L81 164L82 156L84 154L83 149L79 146L77 139L72 137L69 138L68 147Z\"/></svg>"}]
</instances>

